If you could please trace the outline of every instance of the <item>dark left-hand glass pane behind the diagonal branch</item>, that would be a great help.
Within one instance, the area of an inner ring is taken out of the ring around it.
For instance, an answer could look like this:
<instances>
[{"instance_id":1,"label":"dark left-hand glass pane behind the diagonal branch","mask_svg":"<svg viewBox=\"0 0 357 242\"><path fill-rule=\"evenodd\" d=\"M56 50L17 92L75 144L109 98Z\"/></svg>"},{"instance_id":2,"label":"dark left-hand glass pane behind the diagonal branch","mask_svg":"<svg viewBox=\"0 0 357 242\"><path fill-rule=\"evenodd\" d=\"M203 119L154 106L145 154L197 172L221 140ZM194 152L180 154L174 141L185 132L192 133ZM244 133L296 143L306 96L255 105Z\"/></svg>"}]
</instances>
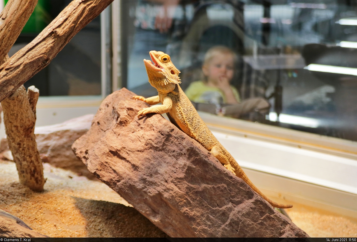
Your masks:
<instances>
[{"instance_id":1,"label":"dark left-hand glass pane behind the diagonal branch","mask_svg":"<svg viewBox=\"0 0 357 242\"><path fill-rule=\"evenodd\" d=\"M39 0L9 56L31 42L70 2ZM100 72L100 17L97 17L24 85L26 88L35 85L40 96L100 95Z\"/></svg>"}]
</instances>

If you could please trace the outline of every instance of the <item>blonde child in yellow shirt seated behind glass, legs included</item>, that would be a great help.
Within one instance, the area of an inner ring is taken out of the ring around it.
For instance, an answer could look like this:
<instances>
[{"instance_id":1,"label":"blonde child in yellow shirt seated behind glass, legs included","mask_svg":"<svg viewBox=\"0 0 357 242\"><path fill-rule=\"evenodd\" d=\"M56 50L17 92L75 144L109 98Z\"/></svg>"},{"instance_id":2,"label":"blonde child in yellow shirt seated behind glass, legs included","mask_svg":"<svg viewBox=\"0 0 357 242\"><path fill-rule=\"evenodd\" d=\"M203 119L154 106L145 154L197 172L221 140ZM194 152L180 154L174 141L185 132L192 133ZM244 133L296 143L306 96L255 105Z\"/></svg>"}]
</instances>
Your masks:
<instances>
[{"instance_id":1,"label":"blonde child in yellow shirt seated behind glass, legs included","mask_svg":"<svg viewBox=\"0 0 357 242\"><path fill-rule=\"evenodd\" d=\"M234 76L236 54L225 46L210 48L203 61L203 80L192 82L186 89L188 99L195 103L216 104L216 110L199 110L215 112L218 115L240 117L252 111L267 113L270 104L264 98L250 98L240 101L238 91L230 83ZM221 107L221 104L224 107ZM265 117L265 116L264 116Z\"/></svg>"}]
</instances>

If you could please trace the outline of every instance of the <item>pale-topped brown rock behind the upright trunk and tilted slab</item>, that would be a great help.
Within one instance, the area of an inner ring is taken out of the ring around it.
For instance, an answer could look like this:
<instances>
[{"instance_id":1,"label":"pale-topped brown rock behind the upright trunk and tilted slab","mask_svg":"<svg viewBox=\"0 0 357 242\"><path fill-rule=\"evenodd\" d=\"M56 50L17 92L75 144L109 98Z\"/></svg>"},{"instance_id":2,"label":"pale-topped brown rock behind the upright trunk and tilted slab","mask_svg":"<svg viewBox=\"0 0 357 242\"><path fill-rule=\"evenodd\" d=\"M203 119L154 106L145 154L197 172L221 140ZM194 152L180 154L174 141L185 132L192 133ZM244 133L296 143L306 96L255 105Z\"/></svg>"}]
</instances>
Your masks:
<instances>
[{"instance_id":1,"label":"pale-topped brown rock behind the upright trunk and tilted slab","mask_svg":"<svg viewBox=\"0 0 357 242\"><path fill-rule=\"evenodd\" d=\"M36 127L34 133L42 161L87 176L89 179L95 179L71 149L73 142L88 131L93 117L93 114L87 114L63 123ZM12 160L11 152L8 150L7 139L1 139L1 155Z\"/></svg>"}]
</instances>

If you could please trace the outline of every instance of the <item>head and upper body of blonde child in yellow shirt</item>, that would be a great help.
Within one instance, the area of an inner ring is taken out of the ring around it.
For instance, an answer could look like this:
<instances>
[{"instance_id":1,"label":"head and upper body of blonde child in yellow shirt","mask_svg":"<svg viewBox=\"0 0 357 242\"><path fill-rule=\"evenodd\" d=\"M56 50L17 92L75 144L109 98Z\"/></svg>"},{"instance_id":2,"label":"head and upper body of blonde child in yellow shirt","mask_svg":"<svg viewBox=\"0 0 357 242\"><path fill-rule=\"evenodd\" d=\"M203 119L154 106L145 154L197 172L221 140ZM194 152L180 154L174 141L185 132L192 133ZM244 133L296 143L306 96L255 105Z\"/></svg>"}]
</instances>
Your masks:
<instances>
[{"instance_id":1,"label":"head and upper body of blonde child in yellow shirt","mask_svg":"<svg viewBox=\"0 0 357 242\"><path fill-rule=\"evenodd\" d=\"M188 99L196 103L237 104L238 91L230 85L234 76L236 54L225 46L210 48L203 61L203 80L186 89Z\"/></svg>"}]
</instances>

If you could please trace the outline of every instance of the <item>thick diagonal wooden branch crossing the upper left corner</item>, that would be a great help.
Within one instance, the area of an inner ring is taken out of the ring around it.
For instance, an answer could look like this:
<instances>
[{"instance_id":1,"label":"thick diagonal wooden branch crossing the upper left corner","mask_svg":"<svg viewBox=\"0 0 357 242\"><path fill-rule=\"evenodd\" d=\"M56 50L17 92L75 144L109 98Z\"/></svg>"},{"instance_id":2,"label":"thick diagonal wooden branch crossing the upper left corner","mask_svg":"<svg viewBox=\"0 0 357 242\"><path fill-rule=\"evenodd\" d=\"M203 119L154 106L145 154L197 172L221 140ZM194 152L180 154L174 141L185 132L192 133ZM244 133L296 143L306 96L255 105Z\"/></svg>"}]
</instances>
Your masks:
<instances>
[{"instance_id":1,"label":"thick diagonal wooden branch crossing the upper left corner","mask_svg":"<svg viewBox=\"0 0 357 242\"><path fill-rule=\"evenodd\" d=\"M28 45L0 67L0 101L47 66L113 0L73 0Z\"/></svg>"}]
</instances>

